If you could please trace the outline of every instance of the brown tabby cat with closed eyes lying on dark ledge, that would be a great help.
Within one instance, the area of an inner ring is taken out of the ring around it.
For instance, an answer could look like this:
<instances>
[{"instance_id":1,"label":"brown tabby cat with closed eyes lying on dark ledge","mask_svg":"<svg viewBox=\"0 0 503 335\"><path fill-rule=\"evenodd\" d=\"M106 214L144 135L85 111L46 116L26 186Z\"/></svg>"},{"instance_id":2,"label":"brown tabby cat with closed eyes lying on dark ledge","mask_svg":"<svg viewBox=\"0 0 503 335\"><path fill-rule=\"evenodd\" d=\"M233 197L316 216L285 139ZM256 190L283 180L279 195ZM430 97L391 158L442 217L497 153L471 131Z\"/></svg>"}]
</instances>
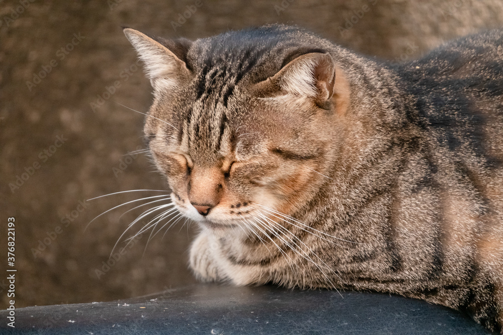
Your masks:
<instances>
[{"instance_id":1,"label":"brown tabby cat with closed eyes lying on dark ledge","mask_svg":"<svg viewBox=\"0 0 503 335\"><path fill-rule=\"evenodd\" d=\"M124 32L199 279L391 292L502 331L502 30L403 64L284 25Z\"/></svg>"}]
</instances>

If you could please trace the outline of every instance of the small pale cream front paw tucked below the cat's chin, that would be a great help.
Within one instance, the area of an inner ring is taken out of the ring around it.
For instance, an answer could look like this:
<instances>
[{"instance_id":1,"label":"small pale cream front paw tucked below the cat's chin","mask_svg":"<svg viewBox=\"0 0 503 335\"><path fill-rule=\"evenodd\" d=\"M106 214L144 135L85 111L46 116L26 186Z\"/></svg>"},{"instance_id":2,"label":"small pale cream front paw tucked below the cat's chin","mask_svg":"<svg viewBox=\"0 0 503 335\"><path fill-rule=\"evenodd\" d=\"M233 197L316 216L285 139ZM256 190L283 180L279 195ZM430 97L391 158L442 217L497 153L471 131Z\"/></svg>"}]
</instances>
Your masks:
<instances>
[{"instance_id":1,"label":"small pale cream front paw tucked below the cat's chin","mask_svg":"<svg viewBox=\"0 0 503 335\"><path fill-rule=\"evenodd\" d=\"M218 243L208 237L206 234L200 234L190 249L190 267L195 276L204 282L220 281L222 276L215 262L215 252L218 249Z\"/></svg>"}]
</instances>

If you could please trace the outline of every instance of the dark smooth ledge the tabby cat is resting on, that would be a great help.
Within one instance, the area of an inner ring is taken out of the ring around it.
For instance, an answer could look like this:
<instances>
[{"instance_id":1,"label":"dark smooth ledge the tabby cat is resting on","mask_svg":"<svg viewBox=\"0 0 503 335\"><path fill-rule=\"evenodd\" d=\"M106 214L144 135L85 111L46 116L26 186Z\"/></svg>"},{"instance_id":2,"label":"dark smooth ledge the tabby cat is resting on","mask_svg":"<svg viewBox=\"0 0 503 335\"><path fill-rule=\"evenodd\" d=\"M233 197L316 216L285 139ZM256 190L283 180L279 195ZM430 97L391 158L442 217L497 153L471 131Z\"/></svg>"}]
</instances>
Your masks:
<instances>
[{"instance_id":1,"label":"dark smooth ledge the tabby cat is resting on","mask_svg":"<svg viewBox=\"0 0 503 335\"><path fill-rule=\"evenodd\" d=\"M469 317L378 293L196 285L115 302L0 311L0 333L36 334L487 334Z\"/></svg>"}]
</instances>

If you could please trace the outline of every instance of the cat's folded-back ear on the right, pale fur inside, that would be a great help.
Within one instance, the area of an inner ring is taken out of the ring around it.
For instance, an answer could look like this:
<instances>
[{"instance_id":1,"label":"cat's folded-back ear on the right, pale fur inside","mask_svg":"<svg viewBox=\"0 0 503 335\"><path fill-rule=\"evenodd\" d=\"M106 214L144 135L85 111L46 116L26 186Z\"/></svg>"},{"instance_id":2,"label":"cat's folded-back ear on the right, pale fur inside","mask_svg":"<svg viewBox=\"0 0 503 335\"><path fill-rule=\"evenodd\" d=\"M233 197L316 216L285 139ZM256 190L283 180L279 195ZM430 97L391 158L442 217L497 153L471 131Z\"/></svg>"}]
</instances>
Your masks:
<instances>
[{"instance_id":1,"label":"cat's folded-back ear on the right, pale fur inside","mask_svg":"<svg viewBox=\"0 0 503 335\"><path fill-rule=\"evenodd\" d=\"M332 57L328 53L312 52L293 59L259 85L305 96L323 105L332 97L335 81L336 65Z\"/></svg>"}]
</instances>

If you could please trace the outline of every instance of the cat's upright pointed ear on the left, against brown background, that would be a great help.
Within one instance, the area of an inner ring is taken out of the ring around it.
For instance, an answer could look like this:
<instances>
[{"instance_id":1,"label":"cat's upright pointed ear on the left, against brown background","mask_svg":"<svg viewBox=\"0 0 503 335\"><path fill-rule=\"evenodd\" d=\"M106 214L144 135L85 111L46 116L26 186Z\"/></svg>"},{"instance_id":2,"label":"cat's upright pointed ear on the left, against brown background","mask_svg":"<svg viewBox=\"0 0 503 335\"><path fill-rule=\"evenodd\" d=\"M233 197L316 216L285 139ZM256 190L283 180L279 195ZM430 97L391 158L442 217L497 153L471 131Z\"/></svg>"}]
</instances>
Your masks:
<instances>
[{"instance_id":1,"label":"cat's upright pointed ear on the left, against brown background","mask_svg":"<svg viewBox=\"0 0 503 335\"><path fill-rule=\"evenodd\" d=\"M179 85L189 75L190 71L187 69L185 56L191 41L186 39L162 40L161 44L131 28L125 28L124 34L145 63L146 75L154 90L169 90Z\"/></svg>"}]
</instances>

